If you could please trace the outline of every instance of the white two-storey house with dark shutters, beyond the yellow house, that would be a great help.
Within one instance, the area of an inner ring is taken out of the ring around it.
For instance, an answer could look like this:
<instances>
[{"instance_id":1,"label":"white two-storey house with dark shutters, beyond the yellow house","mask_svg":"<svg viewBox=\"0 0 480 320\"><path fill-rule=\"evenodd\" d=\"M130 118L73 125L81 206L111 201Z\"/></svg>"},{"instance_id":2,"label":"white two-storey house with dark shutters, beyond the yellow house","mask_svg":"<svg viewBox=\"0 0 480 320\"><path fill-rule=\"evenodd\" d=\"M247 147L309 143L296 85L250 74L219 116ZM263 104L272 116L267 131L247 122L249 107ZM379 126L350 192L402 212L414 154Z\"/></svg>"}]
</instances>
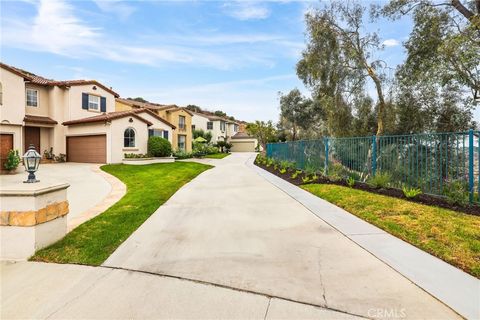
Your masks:
<instances>
[{"instance_id":1,"label":"white two-storey house with dark shutters, beyond the yellow house","mask_svg":"<svg viewBox=\"0 0 480 320\"><path fill-rule=\"evenodd\" d=\"M238 123L228 118L219 117L209 112L192 112L192 128L212 133L212 143L230 141L238 132Z\"/></svg>"}]
</instances>

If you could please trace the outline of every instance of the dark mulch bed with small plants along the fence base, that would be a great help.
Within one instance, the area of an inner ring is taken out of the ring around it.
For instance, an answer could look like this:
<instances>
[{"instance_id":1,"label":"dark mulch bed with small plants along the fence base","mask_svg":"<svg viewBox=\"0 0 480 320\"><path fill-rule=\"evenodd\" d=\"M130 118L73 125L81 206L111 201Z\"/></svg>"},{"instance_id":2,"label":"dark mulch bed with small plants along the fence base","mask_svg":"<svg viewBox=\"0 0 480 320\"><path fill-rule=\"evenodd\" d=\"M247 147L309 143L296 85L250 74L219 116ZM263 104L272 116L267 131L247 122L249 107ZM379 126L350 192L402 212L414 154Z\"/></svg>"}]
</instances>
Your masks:
<instances>
[{"instance_id":1,"label":"dark mulch bed with small plants along the fence base","mask_svg":"<svg viewBox=\"0 0 480 320\"><path fill-rule=\"evenodd\" d=\"M309 183L303 183L302 181L302 177L303 175L302 174L299 174L297 176L297 178L295 179L292 179L292 174L295 172L295 170L287 170L286 173L282 174L280 173L278 170L274 170L273 169L273 166L270 166L270 167L267 167L265 165L262 165L262 164L259 164L255 161L255 165L282 178L283 180L286 180L296 186L300 186L300 185L304 185L304 184L311 184L311 183L319 183L319 184L335 184L335 185L339 185L339 186L345 186L345 187L348 187L347 183L345 181L332 181L330 179L327 179L326 177L324 176L318 176L318 180L314 181L314 182L309 182ZM410 202L416 202L416 203L421 203L421 204L426 204L426 205L430 205L430 206L437 206L437 207L441 207L441 208L445 208L445 209L450 209L450 210L453 210L453 211L459 211L459 212L463 212L463 213L467 213L467 214L472 214L472 215L477 215L477 216L480 216L480 206L479 205L470 205L470 206L466 206L466 207L462 207L462 206L458 206L458 205L455 205L455 204L451 204L449 202L447 202L447 200L445 198L441 198L441 197L436 197L436 196L432 196L432 195L428 195L428 194L420 194L418 196L416 196L415 198L407 198L405 197L405 195L403 194L403 191L402 190L399 190L399 189L394 189L394 188L383 188L383 189L377 189L377 188L372 188L371 186L369 186L368 184L366 183L362 183L362 182L355 182L355 185L353 186L354 189L359 189L359 190L363 190L363 191L368 191L368 192L372 192L372 193L376 193L376 194L381 194L381 195L385 195L385 196L390 196L390 197L394 197L394 198L399 198L399 199L403 199L403 200L407 200L407 201L410 201Z\"/></svg>"}]
</instances>

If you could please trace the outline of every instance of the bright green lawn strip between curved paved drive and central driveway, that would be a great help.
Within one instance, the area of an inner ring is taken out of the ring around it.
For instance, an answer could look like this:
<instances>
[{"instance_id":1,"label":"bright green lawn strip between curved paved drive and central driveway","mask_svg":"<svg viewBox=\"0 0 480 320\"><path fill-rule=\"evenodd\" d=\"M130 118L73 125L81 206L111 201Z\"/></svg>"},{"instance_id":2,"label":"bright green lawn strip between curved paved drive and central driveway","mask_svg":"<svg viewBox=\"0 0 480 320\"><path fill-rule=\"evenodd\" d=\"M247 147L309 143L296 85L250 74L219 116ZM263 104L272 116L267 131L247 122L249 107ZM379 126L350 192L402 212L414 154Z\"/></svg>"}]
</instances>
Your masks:
<instances>
[{"instance_id":1,"label":"bright green lawn strip between curved paved drive and central driveway","mask_svg":"<svg viewBox=\"0 0 480 320\"><path fill-rule=\"evenodd\" d=\"M103 166L103 171L126 184L126 195L102 214L75 228L62 240L38 251L31 260L102 264L181 186L209 168L211 166L193 162Z\"/></svg>"}]
</instances>

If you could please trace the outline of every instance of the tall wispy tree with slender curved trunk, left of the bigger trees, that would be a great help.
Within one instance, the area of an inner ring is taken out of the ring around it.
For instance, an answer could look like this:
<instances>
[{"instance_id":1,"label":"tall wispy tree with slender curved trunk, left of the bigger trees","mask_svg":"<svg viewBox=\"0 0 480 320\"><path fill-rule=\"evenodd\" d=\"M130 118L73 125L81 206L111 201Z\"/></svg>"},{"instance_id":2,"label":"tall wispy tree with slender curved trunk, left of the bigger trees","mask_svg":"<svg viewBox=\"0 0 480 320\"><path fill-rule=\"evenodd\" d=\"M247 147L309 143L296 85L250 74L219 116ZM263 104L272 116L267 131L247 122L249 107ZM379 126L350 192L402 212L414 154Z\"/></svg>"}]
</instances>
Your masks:
<instances>
[{"instance_id":1,"label":"tall wispy tree with slender curved trunk, left of the bigger trees","mask_svg":"<svg viewBox=\"0 0 480 320\"><path fill-rule=\"evenodd\" d=\"M345 115L349 98L364 91L369 79L376 90L377 135L384 133L386 63L375 58L383 49L375 32L364 32L365 7L335 1L306 15L308 43L297 74L327 111ZM330 119L330 122L332 120Z\"/></svg>"}]
</instances>

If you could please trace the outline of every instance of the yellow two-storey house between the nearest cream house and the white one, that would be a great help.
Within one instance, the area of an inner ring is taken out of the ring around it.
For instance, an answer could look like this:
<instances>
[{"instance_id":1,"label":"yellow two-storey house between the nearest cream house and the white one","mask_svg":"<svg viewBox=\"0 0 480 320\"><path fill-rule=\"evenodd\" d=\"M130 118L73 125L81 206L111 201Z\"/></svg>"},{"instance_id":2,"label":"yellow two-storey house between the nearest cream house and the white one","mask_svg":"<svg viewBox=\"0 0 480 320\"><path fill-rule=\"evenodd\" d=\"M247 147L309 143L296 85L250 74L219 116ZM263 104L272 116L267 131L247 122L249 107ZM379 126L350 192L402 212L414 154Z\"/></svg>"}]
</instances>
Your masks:
<instances>
[{"instance_id":1,"label":"yellow two-storey house between the nearest cream house and the white one","mask_svg":"<svg viewBox=\"0 0 480 320\"><path fill-rule=\"evenodd\" d=\"M139 102L131 99L116 99L117 111L146 108L162 119L172 123L176 129L172 134L172 148L186 152L192 151L192 112L176 105L162 105L151 102Z\"/></svg>"}]
</instances>

